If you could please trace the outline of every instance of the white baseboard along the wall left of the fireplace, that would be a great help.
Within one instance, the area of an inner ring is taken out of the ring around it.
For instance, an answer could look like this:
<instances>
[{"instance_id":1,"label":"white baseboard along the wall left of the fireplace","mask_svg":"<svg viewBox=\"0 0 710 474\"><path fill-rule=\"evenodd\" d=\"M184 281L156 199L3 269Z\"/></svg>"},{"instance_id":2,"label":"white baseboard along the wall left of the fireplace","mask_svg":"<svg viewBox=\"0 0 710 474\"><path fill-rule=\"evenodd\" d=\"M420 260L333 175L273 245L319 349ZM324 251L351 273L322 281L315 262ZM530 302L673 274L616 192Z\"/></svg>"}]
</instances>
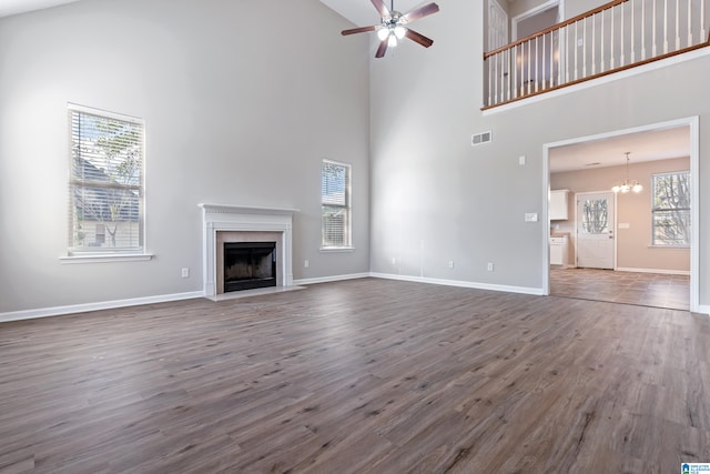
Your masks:
<instances>
[{"instance_id":1,"label":"white baseboard along the wall left of the fireplace","mask_svg":"<svg viewBox=\"0 0 710 474\"><path fill-rule=\"evenodd\" d=\"M97 303L72 304L68 306L41 307L37 310L10 311L0 313L0 322L33 320L39 317L62 316L65 314L85 313L89 311L113 310L116 307L139 306L142 304L166 303L171 301L201 297L201 291L163 294L158 296L133 297L129 300L103 301Z\"/></svg>"}]
</instances>

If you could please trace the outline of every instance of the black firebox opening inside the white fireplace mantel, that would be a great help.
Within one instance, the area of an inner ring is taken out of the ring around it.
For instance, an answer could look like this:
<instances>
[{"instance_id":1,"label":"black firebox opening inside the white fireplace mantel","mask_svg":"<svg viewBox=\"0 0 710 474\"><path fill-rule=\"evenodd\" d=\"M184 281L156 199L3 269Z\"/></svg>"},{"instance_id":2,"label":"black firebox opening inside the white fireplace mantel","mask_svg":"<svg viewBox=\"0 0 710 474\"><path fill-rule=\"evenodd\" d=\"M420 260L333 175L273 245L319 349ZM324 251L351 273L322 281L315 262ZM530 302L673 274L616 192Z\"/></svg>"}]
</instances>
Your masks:
<instances>
[{"instance_id":1,"label":"black firebox opening inside the white fireplace mantel","mask_svg":"<svg viewBox=\"0 0 710 474\"><path fill-rule=\"evenodd\" d=\"M276 242L224 242L224 292L276 286Z\"/></svg>"}]
</instances>

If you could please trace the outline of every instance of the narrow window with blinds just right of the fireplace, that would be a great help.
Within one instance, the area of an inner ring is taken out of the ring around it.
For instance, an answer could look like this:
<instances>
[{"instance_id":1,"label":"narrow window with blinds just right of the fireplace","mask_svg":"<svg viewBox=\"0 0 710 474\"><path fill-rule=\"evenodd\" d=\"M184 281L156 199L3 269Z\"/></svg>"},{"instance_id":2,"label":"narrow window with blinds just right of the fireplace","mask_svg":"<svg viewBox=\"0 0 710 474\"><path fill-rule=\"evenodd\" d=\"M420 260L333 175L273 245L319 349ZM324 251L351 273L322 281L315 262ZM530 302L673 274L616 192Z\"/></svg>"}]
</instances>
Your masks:
<instances>
[{"instance_id":1,"label":"narrow window with blinds just right of the fireplace","mask_svg":"<svg viewBox=\"0 0 710 474\"><path fill-rule=\"evenodd\" d=\"M321 169L323 249L348 249L351 240L351 165L323 160Z\"/></svg>"}]
</instances>

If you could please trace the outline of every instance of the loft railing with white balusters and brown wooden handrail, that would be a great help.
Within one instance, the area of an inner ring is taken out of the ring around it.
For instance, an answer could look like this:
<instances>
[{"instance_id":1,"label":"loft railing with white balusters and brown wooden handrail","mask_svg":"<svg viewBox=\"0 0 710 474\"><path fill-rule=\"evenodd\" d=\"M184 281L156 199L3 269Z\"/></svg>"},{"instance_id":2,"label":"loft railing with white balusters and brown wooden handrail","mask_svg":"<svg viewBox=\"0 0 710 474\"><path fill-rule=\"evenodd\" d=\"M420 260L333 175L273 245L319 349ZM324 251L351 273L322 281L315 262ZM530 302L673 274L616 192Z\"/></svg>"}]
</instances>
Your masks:
<instances>
[{"instance_id":1,"label":"loft railing with white balusters and brown wooden handrail","mask_svg":"<svg viewBox=\"0 0 710 474\"><path fill-rule=\"evenodd\" d=\"M484 110L710 46L710 0L615 0L484 53Z\"/></svg>"}]
</instances>

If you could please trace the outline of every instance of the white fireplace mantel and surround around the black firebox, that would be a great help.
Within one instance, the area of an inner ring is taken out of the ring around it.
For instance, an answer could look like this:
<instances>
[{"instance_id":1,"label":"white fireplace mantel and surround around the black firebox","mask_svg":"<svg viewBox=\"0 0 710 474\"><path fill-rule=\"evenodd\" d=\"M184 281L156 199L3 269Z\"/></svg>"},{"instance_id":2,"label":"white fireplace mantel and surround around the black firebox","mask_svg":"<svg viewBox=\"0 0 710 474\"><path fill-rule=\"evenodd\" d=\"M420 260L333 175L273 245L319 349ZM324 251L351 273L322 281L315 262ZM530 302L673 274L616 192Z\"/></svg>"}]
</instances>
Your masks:
<instances>
[{"instance_id":1,"label":"white fireplace mantel and surround around the black firebox","mask_svg":"<svg viewBox=\"0 0 710 474\"><path fill-rule=\"evenodd\" d=\"M203 292L224 293L224 243L276 243L276 286L293 286L292 239L294 209L199 204L203 223Z\"/></svg>"}]
</instances>

